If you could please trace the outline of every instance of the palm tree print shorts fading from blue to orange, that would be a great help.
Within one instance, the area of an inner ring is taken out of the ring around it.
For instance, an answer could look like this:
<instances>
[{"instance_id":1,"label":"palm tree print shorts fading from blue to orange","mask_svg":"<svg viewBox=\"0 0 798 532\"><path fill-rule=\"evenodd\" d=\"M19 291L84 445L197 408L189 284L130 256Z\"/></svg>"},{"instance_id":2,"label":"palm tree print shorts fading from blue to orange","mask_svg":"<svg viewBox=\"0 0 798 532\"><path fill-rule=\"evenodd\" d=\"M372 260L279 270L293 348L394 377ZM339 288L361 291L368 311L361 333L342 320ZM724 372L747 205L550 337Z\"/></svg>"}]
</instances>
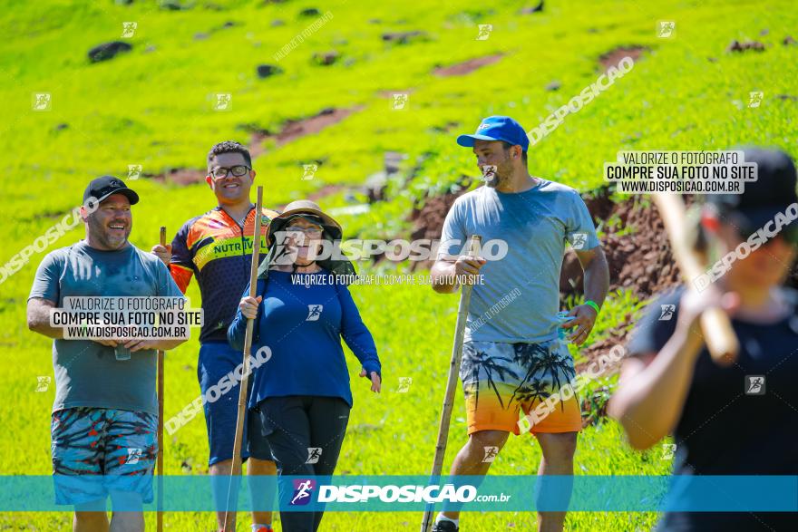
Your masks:
<instances>
[{"instance_id":1,"label":"palm tree print shorts fading from blue to orange","mask_svg":"<svg viewBox=\"0 0 798 532\"><path fill-rule=\"evenodd\" d=\"M464 343L460 379L468 433L579 431L575 376L568 347L556 338L543 343Z\"/></svg>"}]
</instances>

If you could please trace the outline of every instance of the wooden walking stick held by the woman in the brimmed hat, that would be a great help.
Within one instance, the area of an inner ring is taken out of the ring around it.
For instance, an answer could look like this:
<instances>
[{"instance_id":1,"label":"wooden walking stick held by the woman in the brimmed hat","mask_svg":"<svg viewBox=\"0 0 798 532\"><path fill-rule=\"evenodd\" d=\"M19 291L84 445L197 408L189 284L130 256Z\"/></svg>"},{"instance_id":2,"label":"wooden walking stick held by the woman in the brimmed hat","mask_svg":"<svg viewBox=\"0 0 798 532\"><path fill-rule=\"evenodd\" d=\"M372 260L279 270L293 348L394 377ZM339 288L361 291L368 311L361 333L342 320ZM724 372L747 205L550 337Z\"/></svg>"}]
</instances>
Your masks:
<instances>
[{"instance_id":1,"label":"wooden walking stick held by the woman in the brimmed hat","mask_svg":"<svg viewBox=\"0 0 798 532\"><path fill-rule=\"evenodd\" d=\"M258 259L260 258L260 225L263 217L263 187L258 187L258 201L255 203L255 230L252 233L252 266L249 268L249 297L258 294ZM233 490L233 479L241 474L241 440L244 436L244 416L247 412L247 392L249 383L249 353L252 350L252 329L255 320L247 320L247 334L244 336L244 362L241 374L241 388L238 390L238 418L236 419L236 436L233 439L233 463L230 466L230 483L228 498L225 502L225 532L232 530L230 521L230 494Z\"/></svg>"}]
</instances>

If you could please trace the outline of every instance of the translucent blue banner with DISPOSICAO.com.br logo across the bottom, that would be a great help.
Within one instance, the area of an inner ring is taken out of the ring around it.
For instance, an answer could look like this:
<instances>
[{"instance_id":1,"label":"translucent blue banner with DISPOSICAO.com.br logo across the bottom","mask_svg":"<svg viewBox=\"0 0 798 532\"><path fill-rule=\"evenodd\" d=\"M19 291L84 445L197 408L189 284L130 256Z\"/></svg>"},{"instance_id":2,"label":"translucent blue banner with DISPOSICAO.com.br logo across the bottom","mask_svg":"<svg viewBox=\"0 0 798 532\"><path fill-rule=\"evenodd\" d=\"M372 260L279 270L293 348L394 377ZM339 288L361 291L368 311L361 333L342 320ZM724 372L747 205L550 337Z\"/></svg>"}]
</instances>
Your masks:
<instances>
[{"instance_id":1,"label":"translucent blue banner with DISPOSICAO.com.br logo across the bottom","mask_svg":"<svg viewBox=\"0 0 798 532\"><path fill-rule=\"evenodd\" d=\"M0 511L798 512L798 476L5 476Z\"/></svg>"}]
</instances>

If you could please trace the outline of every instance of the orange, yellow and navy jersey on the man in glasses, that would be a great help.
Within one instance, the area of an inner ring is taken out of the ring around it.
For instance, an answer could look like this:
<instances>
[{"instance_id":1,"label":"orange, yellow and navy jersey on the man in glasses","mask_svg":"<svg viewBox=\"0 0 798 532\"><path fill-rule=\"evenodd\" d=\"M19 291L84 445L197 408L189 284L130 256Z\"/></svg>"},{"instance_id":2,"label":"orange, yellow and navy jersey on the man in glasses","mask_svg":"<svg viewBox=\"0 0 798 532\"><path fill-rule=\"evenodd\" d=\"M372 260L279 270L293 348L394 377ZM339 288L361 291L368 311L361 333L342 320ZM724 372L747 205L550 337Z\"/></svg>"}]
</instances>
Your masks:
<instances>
[{"instance_id":1,"label":"orange, yellow and navy jersey on the man in glasses","mask_svg":"<svg viewBox=\"0 0 798 532\"><path fill-rule=\"evenodd\" d=\"M266 256L267 225L277 216L263 209L260 260ZM227 343L227 331L238 301L249 283L255 208L250 208L243 227L220 207L186 222L171 242L170 273L185 294L191 276L197 277L205 323L199 342Z\"/></svg>"}]
</instances>

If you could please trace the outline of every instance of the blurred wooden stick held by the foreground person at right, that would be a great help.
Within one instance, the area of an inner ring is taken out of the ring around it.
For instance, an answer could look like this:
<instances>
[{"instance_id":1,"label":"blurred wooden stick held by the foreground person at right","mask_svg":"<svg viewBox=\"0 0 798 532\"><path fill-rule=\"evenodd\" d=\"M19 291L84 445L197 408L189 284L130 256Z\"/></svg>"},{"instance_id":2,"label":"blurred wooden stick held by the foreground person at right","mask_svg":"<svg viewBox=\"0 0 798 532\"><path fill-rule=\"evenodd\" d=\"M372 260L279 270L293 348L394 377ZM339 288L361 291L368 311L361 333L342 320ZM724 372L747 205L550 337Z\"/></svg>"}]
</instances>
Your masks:
<instances>
[{"instance_id":1,"label":"blurred wooden stick held by the foreground person at right","mask_svg":"<svg viewBox=\"0 0 798 532\"><path fill-rule=\"evenodd\" d=\"M676 194L652 194L659 216L665 224L668 240L670 240L676 265L682 272L687 290L695 290L694 280L704 273L698 257L687 245L685 227L685 204ZM740 344L737 342L735 330L729 316L720 308L708 308L701 314L701 331L704 333L706 349L712 360L722 366L735 361Z\"/></svg>"}]
</instances>

